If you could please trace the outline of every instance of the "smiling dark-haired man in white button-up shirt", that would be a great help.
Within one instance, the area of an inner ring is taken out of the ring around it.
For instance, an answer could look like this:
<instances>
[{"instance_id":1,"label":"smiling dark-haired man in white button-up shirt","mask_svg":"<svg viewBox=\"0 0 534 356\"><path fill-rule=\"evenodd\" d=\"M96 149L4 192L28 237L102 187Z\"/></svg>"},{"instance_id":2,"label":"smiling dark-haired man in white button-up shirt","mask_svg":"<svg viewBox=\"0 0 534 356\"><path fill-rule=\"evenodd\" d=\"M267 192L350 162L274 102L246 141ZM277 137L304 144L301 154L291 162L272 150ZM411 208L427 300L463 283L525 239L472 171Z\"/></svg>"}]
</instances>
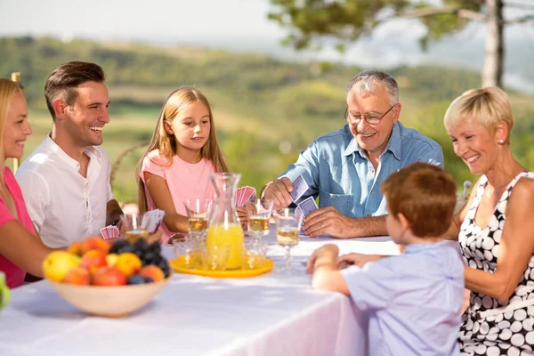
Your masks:
<instances>
[{"instance_id":1,"label":"smiling dark-haired man in white button-up shirt","mask_svg":"<svg viewBox=\"0 0 534 356\"><path fill-rule=\"evenodd\" d=\"M48 247L67 247L116 222L122 210L109 184L108 155L97 147L109 123L104 71L62 64L44 85L52 133L24 160L16 178L28 213Z\"/></svg>"}]
</instances>

